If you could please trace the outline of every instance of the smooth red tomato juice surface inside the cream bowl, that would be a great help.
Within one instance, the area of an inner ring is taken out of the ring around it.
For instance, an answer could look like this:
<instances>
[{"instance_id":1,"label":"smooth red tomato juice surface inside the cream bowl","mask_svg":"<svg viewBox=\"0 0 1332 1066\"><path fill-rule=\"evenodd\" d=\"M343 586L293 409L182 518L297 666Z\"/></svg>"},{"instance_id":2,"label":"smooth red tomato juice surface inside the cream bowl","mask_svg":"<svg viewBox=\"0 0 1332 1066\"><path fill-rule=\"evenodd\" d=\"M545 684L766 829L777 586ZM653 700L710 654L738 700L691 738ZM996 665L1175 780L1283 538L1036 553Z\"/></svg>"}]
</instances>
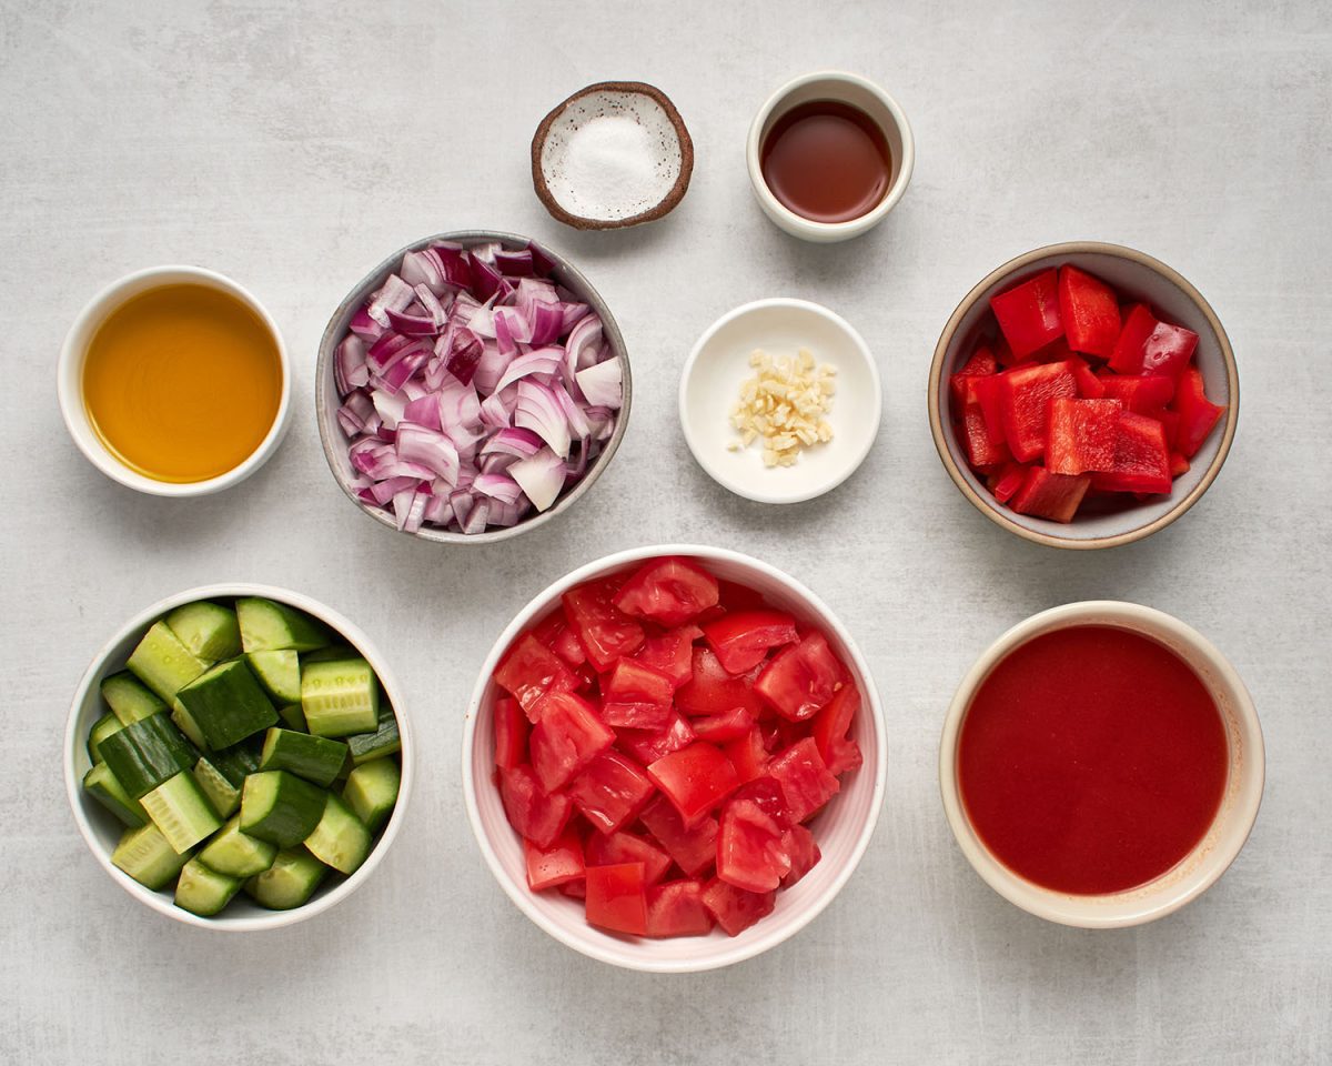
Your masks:
<instances>
[{"instance_id":1,"label":"smooth red tomato juice surface inside the cream bowl","mask_svg":"<svg viewBox=\"0 0 1332 1066\"><path fill-rule=\"evenodd\" d=\"M1055 891L1143 885L1207 833L1225 789L1225 728L1193 670L1111 626L1010 652L962 722L972 827L1014 873Z\"/></svg>"}]
</instances>

